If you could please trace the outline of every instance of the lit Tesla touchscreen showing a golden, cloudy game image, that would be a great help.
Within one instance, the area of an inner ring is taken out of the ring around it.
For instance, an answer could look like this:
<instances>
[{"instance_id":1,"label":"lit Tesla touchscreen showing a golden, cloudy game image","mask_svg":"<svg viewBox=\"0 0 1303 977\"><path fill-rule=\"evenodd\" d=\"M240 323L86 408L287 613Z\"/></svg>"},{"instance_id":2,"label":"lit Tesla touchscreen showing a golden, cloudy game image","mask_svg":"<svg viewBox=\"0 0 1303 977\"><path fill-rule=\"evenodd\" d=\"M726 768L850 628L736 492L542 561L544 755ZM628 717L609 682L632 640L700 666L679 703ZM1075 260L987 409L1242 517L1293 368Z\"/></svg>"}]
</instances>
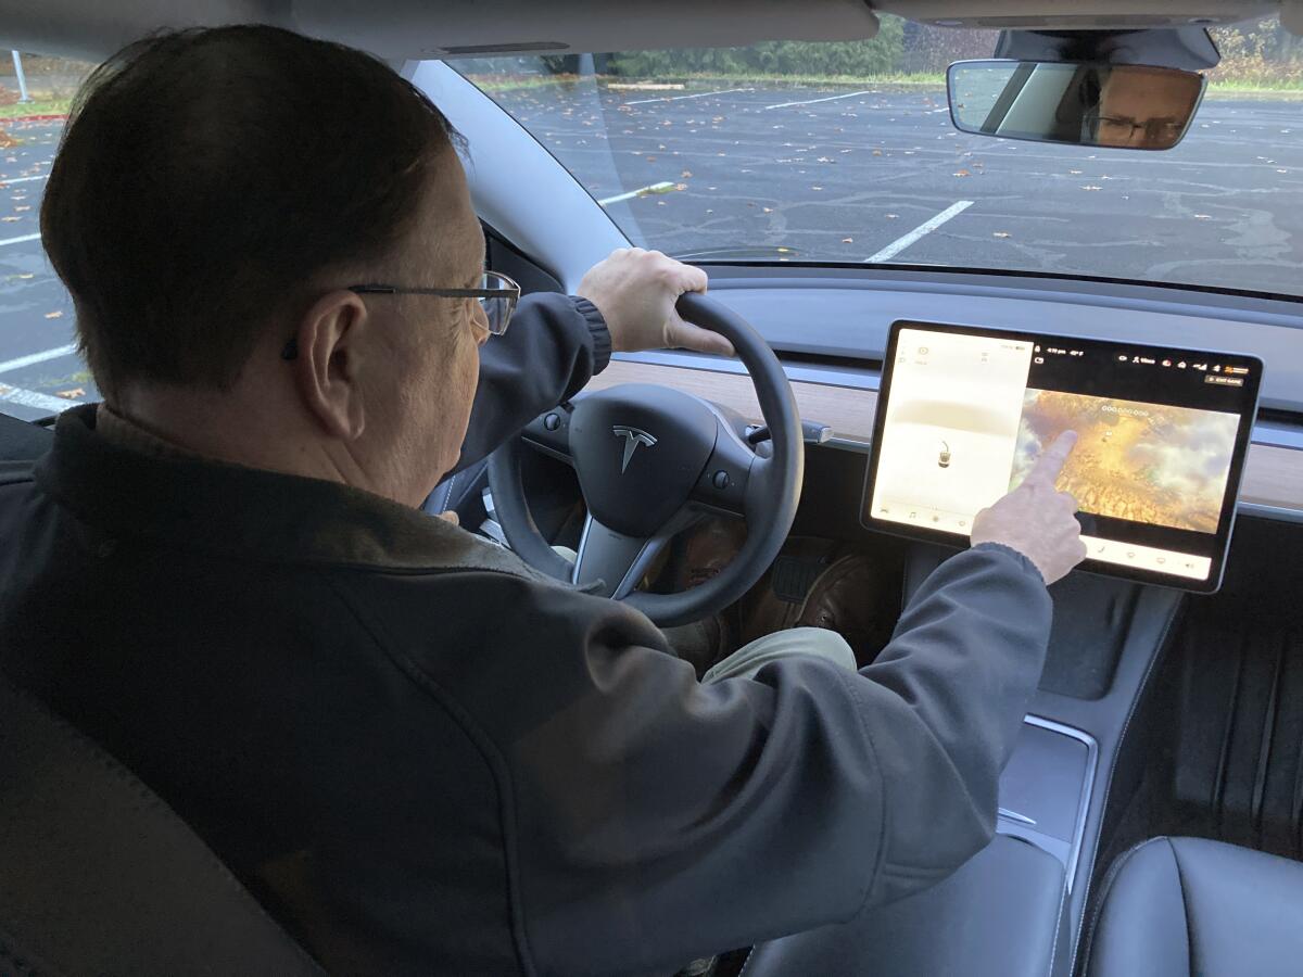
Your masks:
<instances>
[{"instance_id":1,"label":"lit Tesla touchscreen showing a golden, cloudy game image","mask_svg":"<svg viewBox=\"0 0 1303 977\"><path fill-rule=\"evenodd\" d=\"M1251 356L898 322L864 522L959 543L1063 431L1084 569L1221 584L1263 365Z\"/></svg>"}]
</instances>

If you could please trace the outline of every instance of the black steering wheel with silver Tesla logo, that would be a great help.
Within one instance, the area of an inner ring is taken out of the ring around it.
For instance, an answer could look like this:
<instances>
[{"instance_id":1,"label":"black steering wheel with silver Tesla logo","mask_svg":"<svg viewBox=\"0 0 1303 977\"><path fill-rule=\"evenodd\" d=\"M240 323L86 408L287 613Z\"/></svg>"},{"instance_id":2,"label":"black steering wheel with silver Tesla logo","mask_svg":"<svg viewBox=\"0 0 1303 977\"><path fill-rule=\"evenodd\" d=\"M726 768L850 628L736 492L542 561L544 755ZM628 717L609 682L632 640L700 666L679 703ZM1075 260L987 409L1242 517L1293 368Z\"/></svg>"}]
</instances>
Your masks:
<instances>
[{"instance_id":1,"label":"black steering wheel with silver Tesla logo","mask_svg":"<svg viewBox=\"0 0 1303 977\"><path fill-rule=\"evenodd\" d=\"M521 559L624 601L659 625L706 617L760 580L792 528L805 469L791 384L760 333L692 292L679 298L678 310L732 343L756 387L770 452L752 447L744 421L701 397L624 383L541 414L489 457L498 521ZM588 516L575 563L549 546L529 513L520 475L525 448L567 461L579 475ZM718 513L747 521L747 542L723 571L678 594L635 589L674 535Z\"/></svg>"}]
</instances>

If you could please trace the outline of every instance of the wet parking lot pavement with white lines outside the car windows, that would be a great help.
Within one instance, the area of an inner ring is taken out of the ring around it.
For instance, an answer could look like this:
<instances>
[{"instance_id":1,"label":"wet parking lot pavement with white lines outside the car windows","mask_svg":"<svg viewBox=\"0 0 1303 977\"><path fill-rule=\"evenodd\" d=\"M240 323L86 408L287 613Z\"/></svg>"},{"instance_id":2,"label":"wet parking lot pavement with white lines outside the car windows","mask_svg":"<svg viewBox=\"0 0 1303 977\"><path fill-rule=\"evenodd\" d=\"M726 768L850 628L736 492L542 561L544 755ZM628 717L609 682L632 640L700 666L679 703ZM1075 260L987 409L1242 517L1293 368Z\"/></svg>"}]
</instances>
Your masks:
<instances>
[{"instance_id":1,"label":"wet parking lot pavement with white lines outside the car windows","mask_svg":"<svg viewBox=\"0 0 1303 977\"><path fill-rule=\"evenodd\" d=\"M939 89L584 82L496 98L636 244L671 254L1303 292L1303 102L1210 98L1178 149L1151 154L964 135ZM98 392L36 237L60 124L10 132L0 410L34 418Z\"/></svg>"}]
</instances>

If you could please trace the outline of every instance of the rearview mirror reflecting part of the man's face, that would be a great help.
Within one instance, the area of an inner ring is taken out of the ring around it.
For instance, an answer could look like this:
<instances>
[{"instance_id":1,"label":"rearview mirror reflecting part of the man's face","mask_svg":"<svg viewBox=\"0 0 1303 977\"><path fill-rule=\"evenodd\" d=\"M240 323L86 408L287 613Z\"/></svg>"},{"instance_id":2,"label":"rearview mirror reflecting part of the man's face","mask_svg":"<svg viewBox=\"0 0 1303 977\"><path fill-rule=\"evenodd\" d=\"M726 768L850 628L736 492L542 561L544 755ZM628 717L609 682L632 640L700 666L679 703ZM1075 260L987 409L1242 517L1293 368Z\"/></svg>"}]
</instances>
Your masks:
<instances>
[{"instance_id":1,"label":"rearview mirror reflecting part of the man's face","mask_svg":"<svg viewBox=\"0 0 1303 977\"><path fill-rule=\"evenodd\" d=\"M960 132L1134 150L1181 142L1205 85L1175 68L1061 61L958 61L946 81Z\"/></svg>"}]
</instances>

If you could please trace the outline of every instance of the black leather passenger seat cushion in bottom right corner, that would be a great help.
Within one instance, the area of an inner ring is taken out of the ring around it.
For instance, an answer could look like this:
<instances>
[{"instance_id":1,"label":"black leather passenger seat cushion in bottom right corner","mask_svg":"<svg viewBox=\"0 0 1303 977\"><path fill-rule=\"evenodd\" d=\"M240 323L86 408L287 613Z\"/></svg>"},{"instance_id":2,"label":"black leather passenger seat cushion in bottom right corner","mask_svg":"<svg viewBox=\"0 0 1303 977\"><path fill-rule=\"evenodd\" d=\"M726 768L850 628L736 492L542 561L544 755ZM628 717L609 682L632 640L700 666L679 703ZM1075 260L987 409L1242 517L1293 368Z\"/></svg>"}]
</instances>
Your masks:
<instances>
[{"instance_id":1,"label":"black leather passenger seat cushion in bottom right corner","mask_svg":"<svg viewBox=\"0 0 1303 977\"><path fill-rule=\"evenodd\" d=\"M1303 864L1200 838L1154 838L1109 871L1089 977L1298 977Z\"/></svg>"}]
</instances>

